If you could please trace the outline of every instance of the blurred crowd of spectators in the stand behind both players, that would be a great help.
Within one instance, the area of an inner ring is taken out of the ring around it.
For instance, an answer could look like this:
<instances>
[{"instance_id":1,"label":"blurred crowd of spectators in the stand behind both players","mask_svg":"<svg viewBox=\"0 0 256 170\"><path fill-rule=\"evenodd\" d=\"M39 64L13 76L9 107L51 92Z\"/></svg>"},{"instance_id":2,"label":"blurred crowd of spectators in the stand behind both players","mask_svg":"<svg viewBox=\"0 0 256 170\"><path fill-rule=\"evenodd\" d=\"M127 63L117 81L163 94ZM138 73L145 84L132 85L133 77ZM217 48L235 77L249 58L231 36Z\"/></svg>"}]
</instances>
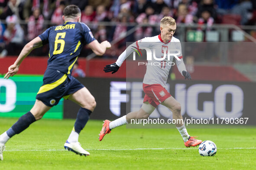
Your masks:
<instances>
[{"instance_id":1,"label":"blurred crowd of spectators in the stand behind both players","mask_svg":"<svg viewBox=\"0 0 256 170\"><path fill-rule=\"evenodd\" d=\"M63 24L63 9L69 4L79 6L81 22L89 25L98 41L118 41L104 57L118 57L126 42L158 35L159 27L144 26L122 39L136 24L159 25L163 16L172 16L177 25L207 24L207 29L230 21L256 24L256 0L0 0L0 57L18 55L24 44L46 28ZM48 50L45 46L31 55L48 56ZM81 56L88 54L91 51L84 46Z\"/></svg>"}]
</instances>

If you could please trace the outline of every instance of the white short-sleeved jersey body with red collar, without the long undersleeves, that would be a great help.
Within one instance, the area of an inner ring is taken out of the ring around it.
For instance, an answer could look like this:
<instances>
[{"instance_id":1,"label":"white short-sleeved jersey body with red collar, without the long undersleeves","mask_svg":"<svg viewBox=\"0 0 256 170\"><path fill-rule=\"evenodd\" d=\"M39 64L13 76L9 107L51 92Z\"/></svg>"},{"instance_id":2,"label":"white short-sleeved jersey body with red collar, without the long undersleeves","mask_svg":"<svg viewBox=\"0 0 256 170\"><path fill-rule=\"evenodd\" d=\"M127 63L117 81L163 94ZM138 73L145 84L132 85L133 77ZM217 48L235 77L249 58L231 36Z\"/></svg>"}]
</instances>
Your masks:
<instances>
[{"instance_id":1,"label":"white short-sleeved jersey body with red collar, without the long undersleeves","mask_svg":"<svg viewBox=\"0 0 256 170\"><path fill-rule=\"evenodd\" d=\"M165 87L169 76L169 71L174 65L174 63L172 63L174 55L179 59L182 59L180 41L177 38L172 37L172 40L169 43L165 44L162 41L161 36L157 35L154 37L146 37L139 41L136 41L137 48L143 49L143 45L148 45L148 48L152 52L152 60L148 60L147 62L147 69L143 79L143 83L148 85L160 84ZM165 59L162 60L163 58ZM176 62L177 61L178 60L176 59Z\"/></svg>"}]
</instances>

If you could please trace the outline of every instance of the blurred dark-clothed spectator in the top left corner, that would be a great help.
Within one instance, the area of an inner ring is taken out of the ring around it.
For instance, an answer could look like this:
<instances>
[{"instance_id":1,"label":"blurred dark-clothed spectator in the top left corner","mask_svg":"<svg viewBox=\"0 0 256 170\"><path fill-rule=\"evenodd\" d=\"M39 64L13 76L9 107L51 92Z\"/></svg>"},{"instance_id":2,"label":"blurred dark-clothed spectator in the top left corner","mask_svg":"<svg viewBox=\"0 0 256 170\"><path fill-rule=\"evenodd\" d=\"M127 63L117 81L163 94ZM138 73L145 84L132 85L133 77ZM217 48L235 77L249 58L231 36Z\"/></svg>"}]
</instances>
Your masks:
<instances>
[{"instance_id":1,"label":"blurred dark-clothed spectator in the top left corner","mask_svg":"<svg viewBox=\"0 0 256 170\"><path fill-rule=\"evenodd\" d=\"M0 19L6 19L7 16L16 15L18 19L23 19L23 3L20 0L9 0L7 6L4 8Z\"/></svg>"}]
</instances>

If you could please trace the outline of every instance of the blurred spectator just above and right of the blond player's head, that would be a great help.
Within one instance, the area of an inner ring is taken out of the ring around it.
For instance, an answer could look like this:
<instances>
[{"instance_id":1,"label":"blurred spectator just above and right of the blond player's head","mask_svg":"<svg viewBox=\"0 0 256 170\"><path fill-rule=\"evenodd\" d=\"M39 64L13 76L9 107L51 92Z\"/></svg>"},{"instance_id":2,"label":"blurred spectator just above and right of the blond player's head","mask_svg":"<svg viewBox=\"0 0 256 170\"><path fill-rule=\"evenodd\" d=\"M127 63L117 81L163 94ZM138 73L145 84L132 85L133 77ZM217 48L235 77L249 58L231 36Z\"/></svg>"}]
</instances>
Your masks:
<instances>
[{"instance_id":1,"label":"blurred spectator just above and right of the blond player's head","mask_svg":"<svg viewBox=\"0 0 256 170\"><path fill-rule=\"evenodd\" d=\"M194 19L194 16L188 13L187 6L181 3L178 6L177 16L175 16L176 23L191 24L193 23L193 19Z\"/></svg>"}]
</instances>

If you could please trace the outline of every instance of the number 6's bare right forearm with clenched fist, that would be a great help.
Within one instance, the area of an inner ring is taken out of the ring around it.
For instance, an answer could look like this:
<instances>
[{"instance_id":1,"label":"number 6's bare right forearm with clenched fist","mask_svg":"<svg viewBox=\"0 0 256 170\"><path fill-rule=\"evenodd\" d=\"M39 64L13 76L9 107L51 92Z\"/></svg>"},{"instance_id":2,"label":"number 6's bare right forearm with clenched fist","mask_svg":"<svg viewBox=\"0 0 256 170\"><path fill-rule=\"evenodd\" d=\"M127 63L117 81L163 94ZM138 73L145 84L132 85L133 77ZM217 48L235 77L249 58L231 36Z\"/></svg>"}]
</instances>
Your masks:
<instances>
[{"instance_id":1,"label":"number 6's bare right forearm with clenched fist","mask_svg":"<svg viewBox=\"0 0 256 170\"><path fill-rule=\"evenodd\" d=\"M97 56L102 56L106 52L106 50L111 47L111 44L108 41L103 41L102 43L99 43L97 40L94 40L89 43L88 46Z\"/></svg>"}]
</instances>

